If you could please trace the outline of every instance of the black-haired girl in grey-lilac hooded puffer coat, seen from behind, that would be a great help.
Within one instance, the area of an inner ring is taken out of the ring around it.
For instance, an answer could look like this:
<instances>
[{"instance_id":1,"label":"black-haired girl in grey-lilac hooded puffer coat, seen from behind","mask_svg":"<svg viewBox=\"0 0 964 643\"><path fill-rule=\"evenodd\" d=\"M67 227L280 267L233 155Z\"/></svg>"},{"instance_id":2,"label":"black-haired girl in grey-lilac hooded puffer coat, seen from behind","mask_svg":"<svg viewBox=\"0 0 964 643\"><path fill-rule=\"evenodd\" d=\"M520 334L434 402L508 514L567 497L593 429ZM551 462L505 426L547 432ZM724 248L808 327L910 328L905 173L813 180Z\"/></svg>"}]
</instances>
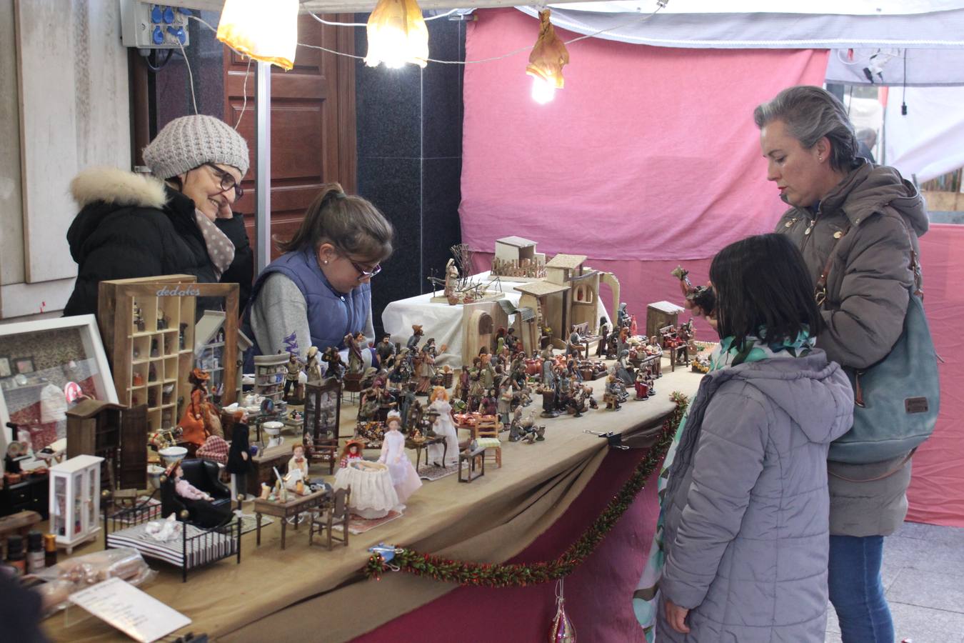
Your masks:
<instances>
[{"instance_id":1,"label":"black-haired girl in grey-lilac hooded puffer coat, seen from behind","mask_svg":"<svg viewBox=\"0 0 964 643\"><path fill-rule=\"evenodd\" d=\"M656 640L822 641L827 448L850 427L850 384L814 348L799 251L776 234L710 266L722 337L690 405L663 499Z\"/></svg>"}]
</instances>

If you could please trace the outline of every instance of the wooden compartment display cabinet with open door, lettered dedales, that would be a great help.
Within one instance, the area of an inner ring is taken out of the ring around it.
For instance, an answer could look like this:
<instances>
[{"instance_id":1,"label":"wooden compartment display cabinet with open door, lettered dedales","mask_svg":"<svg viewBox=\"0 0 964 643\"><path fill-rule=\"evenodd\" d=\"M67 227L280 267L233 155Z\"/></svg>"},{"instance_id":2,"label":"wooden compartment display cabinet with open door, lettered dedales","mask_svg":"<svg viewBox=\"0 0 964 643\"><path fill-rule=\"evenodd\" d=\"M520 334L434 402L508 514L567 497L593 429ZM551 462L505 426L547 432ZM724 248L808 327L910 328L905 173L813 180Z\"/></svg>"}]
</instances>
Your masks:
<instances>
[{"instance_id":1,"label":"wooden compartment display cabinet with open door, lettered dedales","mask_svg":"<svg viewBox=\"0 0 964 643\"><path fill-rule=\"evenodd\" d=\"M101 281L97 323L125 406L147 404L147 432L173 428L191 393L199 298L225 300L224 395L236 396L238 285L190 275ZM145 436L147 439L147 436Z\"/></svg>"}]
</instances>

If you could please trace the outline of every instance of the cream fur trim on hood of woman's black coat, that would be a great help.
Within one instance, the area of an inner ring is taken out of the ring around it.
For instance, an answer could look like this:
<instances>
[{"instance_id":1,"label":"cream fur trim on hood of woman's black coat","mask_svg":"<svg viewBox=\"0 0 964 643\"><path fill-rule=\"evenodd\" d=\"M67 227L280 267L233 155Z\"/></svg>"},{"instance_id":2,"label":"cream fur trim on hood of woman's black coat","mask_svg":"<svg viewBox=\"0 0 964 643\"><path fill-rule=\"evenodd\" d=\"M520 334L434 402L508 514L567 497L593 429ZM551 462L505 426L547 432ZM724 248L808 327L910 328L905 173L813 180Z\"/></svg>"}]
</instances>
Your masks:
<instances>
[{"instance_id":1,"label":"cream fur trim on hood of woman's black coat","mask_svg":"<svg viewBox=\"0 0 964 643\"><path fill-rule=\"evenodd\" d=\"M157 209L167 202L161 179L108 167L91 168L74 176L70 196L81 209L96 201Z\"/></svg>"}]
</instances>

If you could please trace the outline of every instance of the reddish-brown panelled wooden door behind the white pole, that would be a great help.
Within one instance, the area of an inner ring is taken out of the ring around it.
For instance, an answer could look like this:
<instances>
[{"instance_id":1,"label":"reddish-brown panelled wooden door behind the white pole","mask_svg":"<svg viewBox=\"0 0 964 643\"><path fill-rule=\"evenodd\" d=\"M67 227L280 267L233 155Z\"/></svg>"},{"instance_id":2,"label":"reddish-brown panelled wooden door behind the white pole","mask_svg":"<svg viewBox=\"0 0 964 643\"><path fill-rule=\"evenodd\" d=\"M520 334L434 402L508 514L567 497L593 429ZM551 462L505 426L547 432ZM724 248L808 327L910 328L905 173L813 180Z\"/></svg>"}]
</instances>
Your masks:
<instances>
[{"instance_id":1,"label":"reddish-brown panelled wooden door behind the white pole","mask_svg":"<svg viewBox=\"0 0 964 643\"><path fill-rule=\"evenodd\" d=\"M354 14L326 16L354 22ZM355 52L355 33L349 27L321 24L310 15L298 18L298 41ZM254 213L255 114L257 85L252 63L245 89L248 61L225 47L225 121L234 124L247 108L238 131L251 150L251 169L243 182L245 196L235 208ZM298 47L295 67L272 67L271 75L271 233L289 238L301 225L308 204L323 183L337 181L350 193L356 188L355 60ZM255 239L254 216L246 217L248 237ZM279 255L277 248L272 258Z\"/></svg>"}]
</instances>

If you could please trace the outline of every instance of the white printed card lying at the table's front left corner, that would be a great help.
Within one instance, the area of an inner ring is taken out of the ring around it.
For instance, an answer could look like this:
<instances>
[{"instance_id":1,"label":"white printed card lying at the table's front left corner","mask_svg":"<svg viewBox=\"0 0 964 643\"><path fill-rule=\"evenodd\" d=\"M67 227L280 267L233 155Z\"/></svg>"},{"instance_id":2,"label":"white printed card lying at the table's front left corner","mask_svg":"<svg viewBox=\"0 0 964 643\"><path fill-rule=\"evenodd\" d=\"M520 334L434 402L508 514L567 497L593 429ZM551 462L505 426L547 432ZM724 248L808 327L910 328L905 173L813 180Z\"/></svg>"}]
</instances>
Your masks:
<instances>
[{"instance_id":1,"label":"white printed card lying at the table's front left corner","mask_svg":"<svg viewBox=\"0 0 964 643\"><path fill-rule=\"evenodd\" d=\"M179 630L191 619L121 578L111 578L71 594L70 602L131 638L150 643Z\"/></svg>"}]
</instances>

